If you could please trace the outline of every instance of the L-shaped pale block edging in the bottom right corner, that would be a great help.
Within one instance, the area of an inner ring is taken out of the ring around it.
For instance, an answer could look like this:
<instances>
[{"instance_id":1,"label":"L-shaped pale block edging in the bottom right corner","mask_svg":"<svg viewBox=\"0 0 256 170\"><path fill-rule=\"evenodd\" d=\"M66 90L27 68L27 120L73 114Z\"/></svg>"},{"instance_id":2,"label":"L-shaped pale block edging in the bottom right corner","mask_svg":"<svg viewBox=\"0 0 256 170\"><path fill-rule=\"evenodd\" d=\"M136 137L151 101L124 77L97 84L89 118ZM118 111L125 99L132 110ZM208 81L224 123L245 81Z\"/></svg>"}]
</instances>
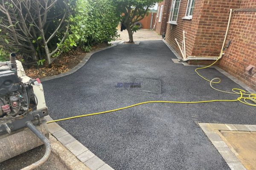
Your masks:
<instances>
[{"instance_id":1,"label":"L-shaped pale block edging in the bottom right corner","mask_svg":"<svg viewBox=\"0 0 256 170\"><path fill-rule=\"evenodd\" d=\"M216 124L216 123L198 123L209 140L227 162L231 170L246 170L244 165L237 158L235 150L230 147L219 136L219 130L228 131L246 131L256 133L256 125L235 125L235 124Z\"/></svg>"}]
</instances>

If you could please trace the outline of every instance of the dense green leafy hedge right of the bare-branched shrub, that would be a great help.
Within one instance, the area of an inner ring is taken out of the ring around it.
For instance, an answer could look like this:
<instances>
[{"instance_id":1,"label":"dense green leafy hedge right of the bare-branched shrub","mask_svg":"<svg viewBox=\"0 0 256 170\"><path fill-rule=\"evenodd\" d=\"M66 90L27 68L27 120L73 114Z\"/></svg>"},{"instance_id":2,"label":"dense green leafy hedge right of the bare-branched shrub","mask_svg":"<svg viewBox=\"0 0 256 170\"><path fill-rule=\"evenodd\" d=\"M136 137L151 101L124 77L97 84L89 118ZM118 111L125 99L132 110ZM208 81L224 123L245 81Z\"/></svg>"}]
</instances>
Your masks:
<instances>
[{"instance_id":1,"label":"dense green leafy hedge right of the bare-branched shrub","mask_svg":"<svg viewBox=\"0 0 256 170\"><path fill-rule=\"evenodd\" d=\"M63 44L57 44L59 51L70 51L76 46L90 51L96 43L109 42L117 37L119 17L110 0L77 0L70 15L70 31Z\"/></svg>"}]
</instances>

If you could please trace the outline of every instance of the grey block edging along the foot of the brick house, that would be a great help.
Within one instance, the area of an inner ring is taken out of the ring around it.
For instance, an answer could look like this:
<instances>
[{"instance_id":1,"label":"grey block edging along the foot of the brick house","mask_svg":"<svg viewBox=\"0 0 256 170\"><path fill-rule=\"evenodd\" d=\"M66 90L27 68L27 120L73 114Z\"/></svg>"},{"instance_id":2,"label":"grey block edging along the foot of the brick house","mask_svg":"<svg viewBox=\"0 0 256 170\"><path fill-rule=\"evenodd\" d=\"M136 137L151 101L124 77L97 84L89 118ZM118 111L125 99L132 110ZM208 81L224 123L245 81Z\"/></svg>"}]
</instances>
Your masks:
<instances>
[{"instance_id":1,"label":"grey block edging along the foot of the brick house","mask_svg":"<svg viewBox=\"0 0 256 170\"><path fill-rule=\"evenodd\" d=\"M163 42L167 45L167 47L173 52L173 54L178 58L178 59L182 59L182 57L180 57L180 54L178 54L174 48L172 48L171 45L169 45L169 43L166 40L163 40ZM204 67L205 65L189 65L187 62L178 62L177 59L172 59L172 61L174 63L182 63L185 66L197 66L197 67ZM219 68L218 66L214 65L211 66L211 68L215 68L216 70L218 70L220 73L224 74L226 77L228 77L229 79L231 79L233 82L236 82L236 84L240 85L242 88L244 88L245 90L247 90L250 93L256 93L256 91L254 91L252 88L250 88L248 85L244 84L244 82L241 82L241 80L237 79L236 77L232 76L231 74L227 73L226 71L224 71L222 68Z\"/></svg>"}]
</instances>

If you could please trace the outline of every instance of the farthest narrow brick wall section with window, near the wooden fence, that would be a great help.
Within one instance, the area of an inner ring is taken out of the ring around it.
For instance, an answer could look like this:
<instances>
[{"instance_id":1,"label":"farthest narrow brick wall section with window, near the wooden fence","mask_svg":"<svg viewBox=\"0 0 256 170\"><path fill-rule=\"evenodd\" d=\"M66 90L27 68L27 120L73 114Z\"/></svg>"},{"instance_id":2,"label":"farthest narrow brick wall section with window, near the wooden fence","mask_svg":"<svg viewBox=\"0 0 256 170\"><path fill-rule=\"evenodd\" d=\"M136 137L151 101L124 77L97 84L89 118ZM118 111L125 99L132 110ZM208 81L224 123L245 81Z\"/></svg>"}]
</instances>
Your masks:
<instances>
[{"instance_id":1,"label":"farthest narrow brick wall section with window, near the wooden fence","mask_svg":"<svg viewBox=\"0 0 256 170\"><path fill-rule=\"evenodd\" d=\"M158 3L158 7L161 7L162 5L163 5L162 19L161 19L161 22L158 22L159 16L160 16L160 11L159 11L158 17L156 19L156 27L155 27L156 32L158 34L161 34L161 35L164 32L166 32L166 27L167 27L167 21L168 21L168 18L169 18L169 11L170 11L171 1L170 0L164 0L161 3ZM158 9L158 7L157 7L157 9Z\"/></svg>"}]
</instances>

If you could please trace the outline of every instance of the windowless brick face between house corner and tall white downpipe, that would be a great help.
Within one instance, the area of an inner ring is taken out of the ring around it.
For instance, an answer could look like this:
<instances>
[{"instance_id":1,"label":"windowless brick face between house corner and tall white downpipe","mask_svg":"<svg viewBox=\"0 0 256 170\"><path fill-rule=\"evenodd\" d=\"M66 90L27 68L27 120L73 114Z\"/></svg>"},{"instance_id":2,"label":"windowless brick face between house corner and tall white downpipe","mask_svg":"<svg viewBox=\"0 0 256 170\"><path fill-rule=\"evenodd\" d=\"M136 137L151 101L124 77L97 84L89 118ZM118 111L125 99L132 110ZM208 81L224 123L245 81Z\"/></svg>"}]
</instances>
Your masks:
<instances>
[{"instance_id":1,"label":"windowless brick face between house corner and tall white downpipe","mask_svg":"<svg viewBox=\"0 0 256 170\"><path fill-rule=\"evenodd\" d=\"M203 8L199 11L198 29L192 56L219 56L227 29L230 8L238 8L239 2L240 0L204 0Z\"/></svg>"}]
</instances>

